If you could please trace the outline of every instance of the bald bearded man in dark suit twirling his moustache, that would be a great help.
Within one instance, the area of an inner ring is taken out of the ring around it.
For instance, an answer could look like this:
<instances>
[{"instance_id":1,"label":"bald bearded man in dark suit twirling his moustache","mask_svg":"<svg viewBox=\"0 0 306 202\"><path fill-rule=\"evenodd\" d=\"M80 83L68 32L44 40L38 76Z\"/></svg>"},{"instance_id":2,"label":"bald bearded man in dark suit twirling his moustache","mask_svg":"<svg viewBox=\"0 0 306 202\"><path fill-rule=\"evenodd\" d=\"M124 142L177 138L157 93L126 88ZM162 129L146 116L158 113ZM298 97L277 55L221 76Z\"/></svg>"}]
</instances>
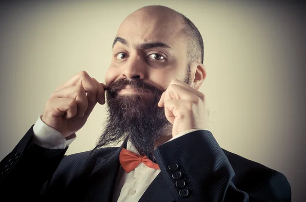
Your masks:
<instances>
[{"instance_id":1,"label":"bald bearded man in dark suit twirling his moustache","mask_svg":"<svg viewBox=\"0 0 306 202\"><path fill-rule=\"evenodd\" d=\"M221 149L209 131L203 43L167 7L129 15L106 84L82 71L59 86L0 164L1 197L27 201L291 201L286 177ZM108 120L92 151L64 156L94 106ZM120 147L101 148L123 141Z\"/></svg>"}]
</instances>

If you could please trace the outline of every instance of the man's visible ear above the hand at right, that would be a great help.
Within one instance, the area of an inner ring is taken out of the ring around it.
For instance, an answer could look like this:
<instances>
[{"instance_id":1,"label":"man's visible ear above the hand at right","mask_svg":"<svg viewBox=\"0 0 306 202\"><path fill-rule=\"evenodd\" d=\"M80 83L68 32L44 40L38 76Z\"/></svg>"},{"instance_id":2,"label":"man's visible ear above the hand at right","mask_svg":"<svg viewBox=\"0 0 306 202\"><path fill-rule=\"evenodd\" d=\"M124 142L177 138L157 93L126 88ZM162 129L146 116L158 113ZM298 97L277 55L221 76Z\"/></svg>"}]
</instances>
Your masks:
<instances>
[{"instance_id":1,"label":"man's visible ear above the hand at right","mask_svg":"<svg viewBox=\"0 0 306 202\"><path fill-rule=\"evenodd\" d=\"M191 87L198 90L201 87L204 79L206 78L206 67L200 62L194 61L191 63L190 69L192 81Z\"/></svg>"}]
</instances>

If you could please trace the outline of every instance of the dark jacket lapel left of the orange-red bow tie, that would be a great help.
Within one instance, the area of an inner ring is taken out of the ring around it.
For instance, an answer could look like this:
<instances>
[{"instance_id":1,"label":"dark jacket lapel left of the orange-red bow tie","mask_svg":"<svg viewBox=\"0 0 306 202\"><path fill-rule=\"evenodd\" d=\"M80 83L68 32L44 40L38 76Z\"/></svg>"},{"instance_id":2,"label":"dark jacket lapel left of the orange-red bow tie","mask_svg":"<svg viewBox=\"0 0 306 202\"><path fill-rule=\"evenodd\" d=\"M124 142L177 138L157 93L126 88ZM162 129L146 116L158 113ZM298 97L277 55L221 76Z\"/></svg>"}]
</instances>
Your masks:
<instances>
[{"instance_id":1,"label":"dark jacket lapel left of the orange-red bow tie","mask_svg":"<svg viewBox=\"0 0 306 202\"><path fill-rule=\"evenodd\" d=\"M86 189L86 201L112 201L119 172L119 154L126 141L115 153L96 158L96 165L90 175Z\"/></svg>"}]
</instances>

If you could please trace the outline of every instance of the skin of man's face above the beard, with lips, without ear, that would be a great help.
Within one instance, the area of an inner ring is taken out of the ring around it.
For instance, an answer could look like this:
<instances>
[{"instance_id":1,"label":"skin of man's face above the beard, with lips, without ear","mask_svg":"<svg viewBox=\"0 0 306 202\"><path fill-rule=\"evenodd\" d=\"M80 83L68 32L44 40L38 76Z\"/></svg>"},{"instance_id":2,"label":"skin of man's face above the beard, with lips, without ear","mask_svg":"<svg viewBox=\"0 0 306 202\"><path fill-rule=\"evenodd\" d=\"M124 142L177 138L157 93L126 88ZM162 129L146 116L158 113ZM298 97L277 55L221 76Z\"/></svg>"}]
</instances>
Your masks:
<instances>
[{"instance_id":1,"label":"skin of man's face above the beard, with lips, without ear","mask_svg":"<svg viewBox=\"0 0 306 202\"><path fill-rule=\"evenodd\" d=\"M184 81L188 61L182 29L178 17L155 11L138 11L127 17L117 32L106 85L120 78L138 78L165 91L172 79Z\"/></svg>"}]
</instances>

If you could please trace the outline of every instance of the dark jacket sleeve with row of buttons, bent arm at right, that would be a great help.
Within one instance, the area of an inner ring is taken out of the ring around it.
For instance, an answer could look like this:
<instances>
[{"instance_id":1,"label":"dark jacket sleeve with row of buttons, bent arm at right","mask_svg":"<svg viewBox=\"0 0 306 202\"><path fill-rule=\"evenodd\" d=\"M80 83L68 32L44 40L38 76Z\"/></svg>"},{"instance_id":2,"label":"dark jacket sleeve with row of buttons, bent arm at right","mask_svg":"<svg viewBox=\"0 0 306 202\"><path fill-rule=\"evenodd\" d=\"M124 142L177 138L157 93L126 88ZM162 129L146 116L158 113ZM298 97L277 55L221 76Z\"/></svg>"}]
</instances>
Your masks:
<instances>
[{"instance_id":1,"label":"dark jacket sleeve with row of buttons, bent arm at right","mask_svg":"<svg viewBox=\"0 0 306 202\"><path fill-rule=\"evenodd\" d=\"M283 174L223 151L208 130L167 142L154 156L175 201L291 201Z\"/></svg>"}]
</instances>

